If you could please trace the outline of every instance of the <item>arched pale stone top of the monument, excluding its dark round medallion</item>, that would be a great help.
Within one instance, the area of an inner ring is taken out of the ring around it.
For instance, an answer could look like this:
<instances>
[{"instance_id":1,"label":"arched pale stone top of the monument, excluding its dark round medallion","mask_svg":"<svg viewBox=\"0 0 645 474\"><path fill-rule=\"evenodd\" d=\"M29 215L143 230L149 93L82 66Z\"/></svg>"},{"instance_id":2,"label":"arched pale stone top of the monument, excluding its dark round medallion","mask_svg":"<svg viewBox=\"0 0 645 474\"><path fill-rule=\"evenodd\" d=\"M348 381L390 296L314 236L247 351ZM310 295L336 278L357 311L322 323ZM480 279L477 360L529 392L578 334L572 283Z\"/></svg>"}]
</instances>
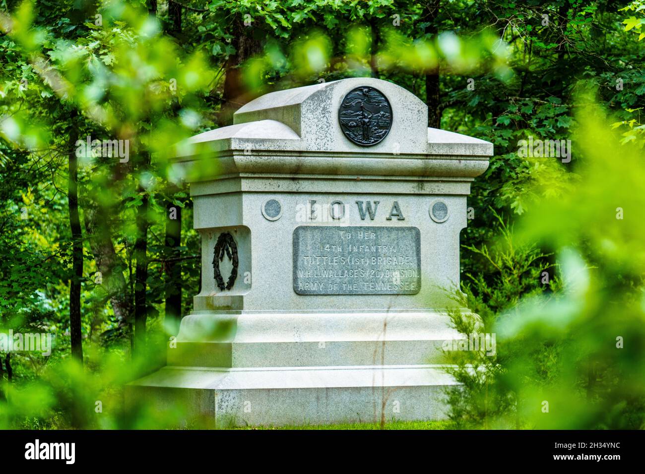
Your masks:
<instances>
[{"instance_id":1,"label":"arched pale stone top of the monument, excluding its dark round medallion","mask_svg":"<svg viewBox=\"0 0 645 474\"><path fill-rule=\"evenodd\" d=\"M348 140L338 120L338 110L348 92L361 86L373 87L381 92L392 106L390 132L377 144L361 146ZM321 157L329 153L369 154L377 159L379 155L415 155L414 159L462 159L487 161L493 153L493 145L487 141L428 128L428 107L414 94L388 81L371 77L355 77L314 84L300 88L266 94L244 105L235 112L235 124L200 133L190 141L181 144L177 150L178 163L190 164L199 148L213 153L246 150L246 157L252 157L263 150L275 152L314 152ZM228 154L228 153L226 153ZM242 157L231 153L235 167L244 171ZM289 155L279 157L283 161ZM213 156L210 155L210 159ZM248 161L246 162L248 163ZM259 161L253 160L259 164ZM268 163L265 163L265 165ZM292 164L289 163L288 164ZM457 163L455 163L456 165ZM276 166L271 164L271 166ZM442 168L428 163L428 173L410 175L441 175ZM450 168L450 167L449 167ZM481 170L479 173L486 169ZM295 171L291 170L292 172ZM456 170L450 170L455 173ZM304 172L304 171L303 171ZM476 176L474 174L473 176Z\"/></svg>"}]
</instances>

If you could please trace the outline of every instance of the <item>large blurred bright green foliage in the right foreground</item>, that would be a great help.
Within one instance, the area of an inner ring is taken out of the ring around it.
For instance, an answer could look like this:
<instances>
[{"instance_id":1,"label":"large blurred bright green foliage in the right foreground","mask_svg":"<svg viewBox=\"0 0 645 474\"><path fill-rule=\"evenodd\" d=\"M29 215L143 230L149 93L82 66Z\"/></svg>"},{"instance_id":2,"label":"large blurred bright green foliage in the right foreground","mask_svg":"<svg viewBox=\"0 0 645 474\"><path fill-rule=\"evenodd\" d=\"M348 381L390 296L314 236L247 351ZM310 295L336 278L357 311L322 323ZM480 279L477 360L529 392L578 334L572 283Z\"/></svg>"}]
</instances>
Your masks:
<instances>
[{"instance_id":1,"label":"large blurred bright green foliage in the right foreground","mask_svg":"<svg viewBox=\"0 0 645 474\"><path fill-rule=\"evenodd\" d=\"M500 266L495 289L475 280L484 301L468 291L483 327L452 314L463 333L497 336L494 357L448 353L465 386L449 393L459 426L645 429L642 152L620 143L590 97L580 98L578 110L579 183L540 201L517 232L502 226L506 247L493 259L512 263ZM517 249L535 245L557 253L559 277L548 291L526 291L514 272L535 257ZM509 304L499 304L499 288L510 291Z\"/></svg>"}]
</instances>

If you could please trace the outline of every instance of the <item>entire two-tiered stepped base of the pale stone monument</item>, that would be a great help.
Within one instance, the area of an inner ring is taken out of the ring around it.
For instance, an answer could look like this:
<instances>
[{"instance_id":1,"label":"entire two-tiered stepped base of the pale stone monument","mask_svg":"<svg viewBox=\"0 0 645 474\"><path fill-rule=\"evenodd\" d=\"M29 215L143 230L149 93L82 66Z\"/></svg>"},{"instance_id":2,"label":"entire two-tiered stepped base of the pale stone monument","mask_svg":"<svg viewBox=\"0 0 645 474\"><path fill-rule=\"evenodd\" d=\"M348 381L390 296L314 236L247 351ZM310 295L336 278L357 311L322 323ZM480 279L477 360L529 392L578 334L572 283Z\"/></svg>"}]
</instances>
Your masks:
<instances>
[{"instance_id":1,"label":"entire two-tiered stepped base of the pale stone monument","mask_svg":"<svg viewBox=\"0 0 645 474\"><path fill-rule=\"evenodd\" d=\"M461 335L442 311L197 311L169 365L128 384L126 400L221 427L444 419L448 339Z\"/></svg>"}]
</instances>

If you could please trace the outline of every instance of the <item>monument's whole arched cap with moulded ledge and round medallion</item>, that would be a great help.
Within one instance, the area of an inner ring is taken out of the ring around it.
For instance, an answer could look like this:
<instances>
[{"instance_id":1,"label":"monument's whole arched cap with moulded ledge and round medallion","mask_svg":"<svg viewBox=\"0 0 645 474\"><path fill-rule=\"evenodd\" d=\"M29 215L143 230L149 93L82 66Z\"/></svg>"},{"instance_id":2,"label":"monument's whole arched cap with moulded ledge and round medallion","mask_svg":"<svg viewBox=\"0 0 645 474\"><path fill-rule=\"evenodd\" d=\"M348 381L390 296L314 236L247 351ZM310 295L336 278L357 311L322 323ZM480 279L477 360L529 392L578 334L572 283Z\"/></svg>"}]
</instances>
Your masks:
<instances>
[{"instance_id":1,"label":"monument's whole arched cap with moulded ledge and round medallion","mask_svg":"<svg viewBox=\"0 0 645 474\"><path fill-rule=\"evenodd\" d=\"M190 173L191 164L213 153L223 158L217 168L223 174L382 175L389 169L394 175L468 178L483 173L493 154L490 142L428 128L426 104L372 77L271 92L240 108L233 121L180 147L177 162L187 181L204 178L203 170Z\"/></svg>"}]
</instances>

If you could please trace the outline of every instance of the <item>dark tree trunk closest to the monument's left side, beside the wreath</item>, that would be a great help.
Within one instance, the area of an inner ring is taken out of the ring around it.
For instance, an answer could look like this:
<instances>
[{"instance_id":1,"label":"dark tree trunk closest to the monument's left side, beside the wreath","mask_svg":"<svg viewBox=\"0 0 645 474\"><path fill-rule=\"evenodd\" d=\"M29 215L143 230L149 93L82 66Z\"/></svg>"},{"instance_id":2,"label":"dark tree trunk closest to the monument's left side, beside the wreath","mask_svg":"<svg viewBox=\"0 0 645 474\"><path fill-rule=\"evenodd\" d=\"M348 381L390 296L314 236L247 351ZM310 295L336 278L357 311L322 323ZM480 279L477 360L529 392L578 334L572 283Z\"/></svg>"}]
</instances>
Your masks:
<instances>
[{"instance_id":1,"label":"dark tree trunk closest to the monument's left side, beside the wreath","mask_svg":"<svg viewBox=\"0 0 645 474\"><path fill-rule=\"evenodd\" d=\"M168 202L166 216L166 255L168 258L179 257L181 246L181 208ZM170 219L171 213L175 219ZM166 326L173 334L179 330L181 322L181 261L166 262Z\"/></svg>"}]
</instances>

